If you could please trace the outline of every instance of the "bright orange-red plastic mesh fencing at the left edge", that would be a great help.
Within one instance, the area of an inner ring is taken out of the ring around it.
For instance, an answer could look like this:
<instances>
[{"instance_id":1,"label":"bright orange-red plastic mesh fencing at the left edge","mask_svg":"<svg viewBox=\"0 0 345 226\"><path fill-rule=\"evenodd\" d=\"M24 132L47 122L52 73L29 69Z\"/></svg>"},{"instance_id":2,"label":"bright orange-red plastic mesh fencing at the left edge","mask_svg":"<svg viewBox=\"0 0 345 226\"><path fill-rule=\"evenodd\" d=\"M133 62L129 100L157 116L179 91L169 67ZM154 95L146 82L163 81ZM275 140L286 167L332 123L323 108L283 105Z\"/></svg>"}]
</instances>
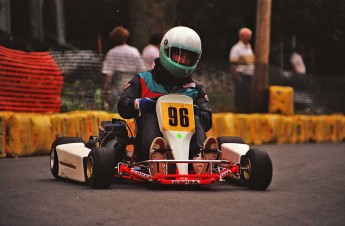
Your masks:
<instances>
[{"instance_id":1,"label":"bright orange-red plastic mesh fencing at the left edge","mask_svg":"<svg viewBox=\"0 0 345 226\"><path fill-rule=\"evenodd\" d=\"M0 46L0 110L60 112L62 72L49 52Z\"/></svg>"}]
</instances>

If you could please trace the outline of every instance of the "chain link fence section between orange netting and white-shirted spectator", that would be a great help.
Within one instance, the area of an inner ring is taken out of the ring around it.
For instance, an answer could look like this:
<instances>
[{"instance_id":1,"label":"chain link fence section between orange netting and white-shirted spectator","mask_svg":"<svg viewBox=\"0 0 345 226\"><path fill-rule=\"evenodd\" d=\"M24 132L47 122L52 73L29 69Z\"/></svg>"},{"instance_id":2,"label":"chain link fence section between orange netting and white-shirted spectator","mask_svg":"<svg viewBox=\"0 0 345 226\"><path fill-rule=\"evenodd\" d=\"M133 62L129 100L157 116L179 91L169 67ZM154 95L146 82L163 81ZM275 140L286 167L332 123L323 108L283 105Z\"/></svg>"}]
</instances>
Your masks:
<instances>
[{"instance_id":1,"label":"chain link fence section between orange netting and white-shirted spectator","mask_svg":"<svg viewBox=\"0 0 345 226\"><path fill-rule=\"evenodd\" d=\"M61 111L104 110L102 57L93 51L51 52L63 72Z\"/></svg>"}]
</instances>

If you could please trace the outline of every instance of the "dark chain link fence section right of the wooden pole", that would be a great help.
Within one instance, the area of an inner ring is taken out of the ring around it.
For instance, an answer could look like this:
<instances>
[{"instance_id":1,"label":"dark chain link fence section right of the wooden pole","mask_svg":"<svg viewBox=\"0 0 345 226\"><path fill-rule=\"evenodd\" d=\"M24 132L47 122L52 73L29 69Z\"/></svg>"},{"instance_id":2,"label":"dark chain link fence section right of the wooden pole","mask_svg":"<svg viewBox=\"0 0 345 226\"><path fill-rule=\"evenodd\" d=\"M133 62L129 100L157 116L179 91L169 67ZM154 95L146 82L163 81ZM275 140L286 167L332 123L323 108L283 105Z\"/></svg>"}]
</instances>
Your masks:
<instances>
[{"instance_id":1,"label":"dark chain link fence section right of the wooden pole","mask_svg":"<svg viewBox=\"0 0 345 226\"><path fill-rule=\"evenodd\" d=\"M271 66L269 83L294 88L296 113L316 115L345 113L344 76L300 75Z\"/></svg>"}]
</instances>

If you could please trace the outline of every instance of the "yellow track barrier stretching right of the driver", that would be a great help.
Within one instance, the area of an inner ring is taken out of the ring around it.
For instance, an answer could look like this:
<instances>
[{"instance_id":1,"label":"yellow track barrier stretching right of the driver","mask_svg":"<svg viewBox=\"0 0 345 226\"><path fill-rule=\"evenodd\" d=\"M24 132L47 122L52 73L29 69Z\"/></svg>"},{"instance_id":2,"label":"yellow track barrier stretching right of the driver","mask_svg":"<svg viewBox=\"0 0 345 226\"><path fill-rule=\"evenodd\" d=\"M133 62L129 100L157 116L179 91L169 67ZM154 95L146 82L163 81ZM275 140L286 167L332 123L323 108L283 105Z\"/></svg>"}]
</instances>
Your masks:
<instances>
[{"instance_id":1,"label":"yellow track barrier stretching right of the driver","mask_svg":"<svg viewBox=\"0 0 345 226\"><path fill-rule=\"evenodd\" d=\"M241 136L248 144L343 142L345 116L218 113L207 136Z\"/></svg>"}]
</instances>

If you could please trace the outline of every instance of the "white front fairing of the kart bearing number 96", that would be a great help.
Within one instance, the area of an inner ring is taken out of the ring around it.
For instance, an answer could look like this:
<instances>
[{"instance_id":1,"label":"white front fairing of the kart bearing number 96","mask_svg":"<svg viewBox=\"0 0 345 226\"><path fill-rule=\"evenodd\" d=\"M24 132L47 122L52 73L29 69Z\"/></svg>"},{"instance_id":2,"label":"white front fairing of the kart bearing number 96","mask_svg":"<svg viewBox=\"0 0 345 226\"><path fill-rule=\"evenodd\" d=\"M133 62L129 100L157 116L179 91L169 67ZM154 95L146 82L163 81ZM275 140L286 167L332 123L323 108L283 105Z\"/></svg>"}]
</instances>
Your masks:
<instances>
[{"instance_id":1,"label":"white front fairing of the kart bearing number 96","mask_svg":"<svg viewBox=\"0 0 345 226\"><path fill-rule=\"evenodd\" d=\"M158 99L156 105L160 131L169 143L175 160L188 160L189 144L195 132L193 99L170 94ZM188 163L177 163L179 174L188 174Z\"/></svg>"}]
</instances>

